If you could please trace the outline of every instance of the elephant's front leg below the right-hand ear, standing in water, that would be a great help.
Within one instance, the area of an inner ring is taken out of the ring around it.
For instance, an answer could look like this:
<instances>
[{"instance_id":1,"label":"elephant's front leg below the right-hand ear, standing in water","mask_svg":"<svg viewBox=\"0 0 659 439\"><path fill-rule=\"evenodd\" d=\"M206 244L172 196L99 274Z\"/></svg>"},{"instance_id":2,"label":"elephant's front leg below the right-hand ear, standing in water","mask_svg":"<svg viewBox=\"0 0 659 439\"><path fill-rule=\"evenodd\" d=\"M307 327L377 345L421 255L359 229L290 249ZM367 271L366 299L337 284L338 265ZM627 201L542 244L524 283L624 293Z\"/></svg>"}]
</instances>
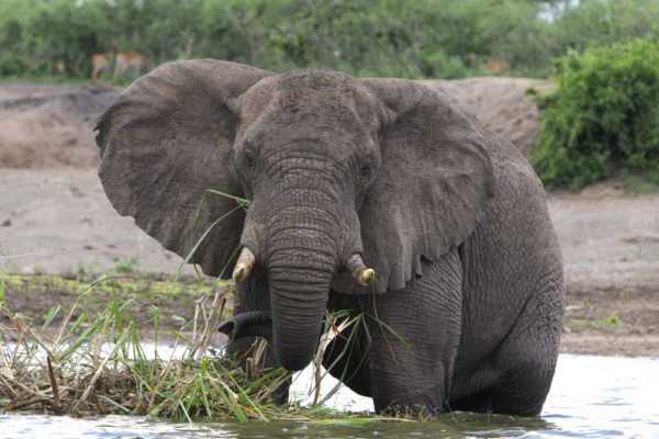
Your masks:
<instances>
[{"instance_id":1,"label":"elephant's front leg below the right-hand ear, standing in water","mask_svg":"<svg viewBox=\"0 0 659 439\"><path fill-rule=\"evenodd\" d=\"M446 409L461 334L461 264L457 250L434 262L404 290L378 296L371 322L369 389L376 412Z\"/></svg>"}]
</instances>

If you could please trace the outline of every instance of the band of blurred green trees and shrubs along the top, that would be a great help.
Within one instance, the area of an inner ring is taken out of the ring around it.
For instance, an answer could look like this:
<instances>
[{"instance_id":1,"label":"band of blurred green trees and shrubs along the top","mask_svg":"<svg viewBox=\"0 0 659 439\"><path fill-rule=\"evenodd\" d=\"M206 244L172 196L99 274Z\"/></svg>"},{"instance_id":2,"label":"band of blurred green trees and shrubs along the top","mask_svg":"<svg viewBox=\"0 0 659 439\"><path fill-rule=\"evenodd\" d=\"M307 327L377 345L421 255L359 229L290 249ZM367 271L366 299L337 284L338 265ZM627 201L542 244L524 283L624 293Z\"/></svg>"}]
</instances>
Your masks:
<instances>
[{"instance_id":1,"label":"band of blurred green trees and shrubs along the top","mask_svg":"<svg viewBox=\"0 0 659 439\"><path fill-rule=\"evenodd\" d=\"M147 67L212 57L273 71L546 77L569 49L656 40L657 23L655 0L3 0L0 77L89 78L92 54L113 44Z\"/></svg>"}]
</instances>

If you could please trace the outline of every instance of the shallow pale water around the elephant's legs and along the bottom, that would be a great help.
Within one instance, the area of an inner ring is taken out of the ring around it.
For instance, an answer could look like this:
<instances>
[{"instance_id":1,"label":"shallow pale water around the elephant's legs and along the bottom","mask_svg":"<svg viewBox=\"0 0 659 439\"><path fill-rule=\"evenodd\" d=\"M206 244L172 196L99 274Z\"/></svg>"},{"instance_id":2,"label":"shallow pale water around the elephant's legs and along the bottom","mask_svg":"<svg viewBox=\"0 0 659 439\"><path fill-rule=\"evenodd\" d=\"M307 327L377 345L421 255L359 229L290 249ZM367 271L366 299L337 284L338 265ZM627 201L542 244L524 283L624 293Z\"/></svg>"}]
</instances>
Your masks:
<instances>
[{"instance_id":1,"label":"shallow pale water around the elephant's legs and along the bottom","mask_svg":"<svg viewBox=\"0 0 659 439\"><path fill-rule=\"evenodd\" d=\"M160 349L160 348L159 348ZM310 375L309 371L305 371ZM333 384L324 383L330 390ZM309 380L295 380L298 399ZM560 356L540 418L445 414L426 423L196 423L144 417L71 419L0 415L0 438L659 438L659 359ZM347 390L331 405L372 409L368 398Z\"/></svg>"}]
</instances>

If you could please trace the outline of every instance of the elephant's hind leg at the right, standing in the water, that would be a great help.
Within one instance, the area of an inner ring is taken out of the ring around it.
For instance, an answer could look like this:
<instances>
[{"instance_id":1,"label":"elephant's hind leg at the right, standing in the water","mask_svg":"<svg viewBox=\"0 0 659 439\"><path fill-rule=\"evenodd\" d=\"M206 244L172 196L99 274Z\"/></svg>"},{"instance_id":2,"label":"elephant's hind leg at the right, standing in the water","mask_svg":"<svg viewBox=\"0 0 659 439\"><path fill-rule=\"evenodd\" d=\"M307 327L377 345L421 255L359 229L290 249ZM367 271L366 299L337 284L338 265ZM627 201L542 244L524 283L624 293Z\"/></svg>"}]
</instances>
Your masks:
<instances>
[{"instance_id":1,"label":"elephant's hind leg at the right, standing in the water","mask_svg":"<svg viewBox=\"0 0 659 439\"><path fill-rule=\"evenodd\" d=\"M492 389L492 409L538 416L551 386L561 331L560 291L535 294L495 352L501 378Z\"/></svg>"}]
</instances>

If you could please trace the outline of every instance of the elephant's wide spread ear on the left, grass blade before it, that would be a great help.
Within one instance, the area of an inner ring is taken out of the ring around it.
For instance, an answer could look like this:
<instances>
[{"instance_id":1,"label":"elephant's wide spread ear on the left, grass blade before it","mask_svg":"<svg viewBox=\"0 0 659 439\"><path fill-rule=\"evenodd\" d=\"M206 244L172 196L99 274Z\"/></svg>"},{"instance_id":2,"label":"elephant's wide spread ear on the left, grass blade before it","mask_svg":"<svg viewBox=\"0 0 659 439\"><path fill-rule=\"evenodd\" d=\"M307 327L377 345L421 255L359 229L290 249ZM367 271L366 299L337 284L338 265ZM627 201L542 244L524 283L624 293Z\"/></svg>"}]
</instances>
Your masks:
<instances>
[{"instance_id":1,"label":"elephant's wide spread ear on the left, grass blade before it","mask_svg":"<svg viewBox=\"0 0 659 439\"><path fill-rule=\"evenodd\" d=\"M165 64L129 87L99 119L99 177L122 215L160 244L186 257L241 196L231 176L237 117L232 102L261 78L253 67L213 59ZM219 275L239 243L244 212L220 221L191 261ZM231 267L223 277L231 275Z\"/></svg>"}]
</instances>

